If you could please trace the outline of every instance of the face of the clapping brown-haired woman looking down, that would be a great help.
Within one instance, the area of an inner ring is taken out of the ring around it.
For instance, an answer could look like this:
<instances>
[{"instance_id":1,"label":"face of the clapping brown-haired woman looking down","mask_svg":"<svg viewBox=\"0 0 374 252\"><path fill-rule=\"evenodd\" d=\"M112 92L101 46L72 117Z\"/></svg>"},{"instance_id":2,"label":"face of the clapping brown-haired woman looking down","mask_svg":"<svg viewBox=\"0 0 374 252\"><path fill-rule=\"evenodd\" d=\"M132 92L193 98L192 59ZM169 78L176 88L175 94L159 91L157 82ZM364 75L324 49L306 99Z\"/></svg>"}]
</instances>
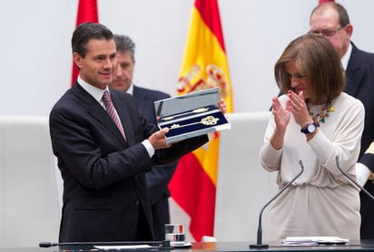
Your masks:
<instances>
[{"instance_id":1,"label":"face of the clapping brown-haired woman looking down","mask_svg":"<svg viewBox=\"0 0 374 252\"><path fill-rule=\"evenodd\" d=\"M290 86L296 93L304 92L304 99L311 98L311 88L308 76L303 75L299 72L295 63L288 63L286 65L286 71L289 74Z\"/></svg>"}]
</instances>

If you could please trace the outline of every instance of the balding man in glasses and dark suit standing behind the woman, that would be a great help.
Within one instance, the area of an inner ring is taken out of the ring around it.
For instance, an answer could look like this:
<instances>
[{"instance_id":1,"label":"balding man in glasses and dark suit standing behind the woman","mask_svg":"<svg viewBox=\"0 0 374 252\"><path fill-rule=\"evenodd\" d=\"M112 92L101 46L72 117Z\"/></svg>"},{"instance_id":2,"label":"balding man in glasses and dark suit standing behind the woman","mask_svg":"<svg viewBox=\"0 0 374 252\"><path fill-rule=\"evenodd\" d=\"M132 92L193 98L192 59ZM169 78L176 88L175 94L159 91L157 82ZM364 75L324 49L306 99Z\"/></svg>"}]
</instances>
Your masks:
<instances>
[{"instance_id":1,"label":"balding man in glasses and dark suit standing behind the woman","mask_svg":"<svg viewBox=\"0 0 374 252\"><path fill-rule=\"evenodd\" d=\"M349 23L346 9L337 3L325 3L314 8L310 15L310 32L326 36L340 55L346 71L345 92L358 98L365 107L365 128L361 138L359 161L356 165L357 179L374 194L373 176L374 154L369 149L374 141L374 54L366 53L350 42L353 26ZM368 180L369 179L369 180ZM361 199L362 239L374 238L374 202L364 193Z\"/></svg>"}]
</instances>

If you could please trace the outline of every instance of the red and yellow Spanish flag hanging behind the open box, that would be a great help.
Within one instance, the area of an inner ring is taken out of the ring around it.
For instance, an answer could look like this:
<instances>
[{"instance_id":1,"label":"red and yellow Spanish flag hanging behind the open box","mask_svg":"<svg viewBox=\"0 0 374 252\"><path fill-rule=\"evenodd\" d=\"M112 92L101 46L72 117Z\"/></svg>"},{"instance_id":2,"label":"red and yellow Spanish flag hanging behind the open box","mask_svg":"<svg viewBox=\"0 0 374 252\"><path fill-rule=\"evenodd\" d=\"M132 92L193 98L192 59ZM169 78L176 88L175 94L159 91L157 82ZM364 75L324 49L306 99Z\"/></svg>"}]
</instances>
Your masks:
<instances>
[{"instance_id":1,"label":"red and yellow Spanish flag hanging behind the open box","mask_svg":"<svg viewBox=\"0 0 374 252\"><path fill-rule=\"evenodd\" d=\"M232 92L217 0L195 0L178 94L219 87L227 112L232 112ZM191 218L196 241L213 236L219 133L179 161L169 189L172 199Z\"/></svg>"}]
</instances>

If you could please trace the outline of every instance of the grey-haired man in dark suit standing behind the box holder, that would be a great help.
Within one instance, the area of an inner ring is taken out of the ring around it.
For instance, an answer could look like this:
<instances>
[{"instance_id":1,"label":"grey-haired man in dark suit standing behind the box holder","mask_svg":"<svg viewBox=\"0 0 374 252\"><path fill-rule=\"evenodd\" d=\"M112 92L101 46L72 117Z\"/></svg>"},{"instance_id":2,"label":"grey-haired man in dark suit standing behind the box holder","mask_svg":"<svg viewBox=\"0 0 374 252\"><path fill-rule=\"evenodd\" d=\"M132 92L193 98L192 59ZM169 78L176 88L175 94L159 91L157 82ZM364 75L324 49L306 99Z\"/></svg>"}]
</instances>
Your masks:
<instances>
[{"instance_id":1,"label":"grey-haired man in dark suit standing behind the box holder","mask_svg":"<svg viewBox=\"0 0 374 252\"><path fill-rule=\"evenodd\" d=\"M114 71L113 82L110 87L133 94L139 108L143 111L144 117L156 124L153 102L169 98L170 95L134 85L135 44L130 37L118 34L114 34L114 42L117 49L117 68ZM170 223L168 184L177 164L178 162L175 161L167 165L156 165L145 174L151 199L153 231L156 240L165 238L164 227L166 223Z\"/></svg>"}]
</instances>

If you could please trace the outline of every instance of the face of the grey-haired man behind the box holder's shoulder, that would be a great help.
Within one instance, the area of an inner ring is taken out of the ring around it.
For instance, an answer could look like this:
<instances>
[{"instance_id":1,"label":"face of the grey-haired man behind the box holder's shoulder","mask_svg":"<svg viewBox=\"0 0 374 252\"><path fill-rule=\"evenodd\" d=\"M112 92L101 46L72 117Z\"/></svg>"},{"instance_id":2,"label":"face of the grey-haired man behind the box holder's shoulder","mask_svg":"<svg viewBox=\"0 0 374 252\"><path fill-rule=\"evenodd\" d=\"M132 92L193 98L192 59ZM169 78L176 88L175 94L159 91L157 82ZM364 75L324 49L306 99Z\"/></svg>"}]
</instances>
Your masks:
<instances>
[{"instance_id":1,"label":"face of the grey-haired man behind the box holder's shoulder","mask_svg":"<svg viewBox=\"0 0 374 252\"><path fill-rule=\"evenodd\" d=\"M111 87L126 92L133 82L135 63L129 52L117 52L117 67L113 72Z\"/></svg>"}]
</instances>

